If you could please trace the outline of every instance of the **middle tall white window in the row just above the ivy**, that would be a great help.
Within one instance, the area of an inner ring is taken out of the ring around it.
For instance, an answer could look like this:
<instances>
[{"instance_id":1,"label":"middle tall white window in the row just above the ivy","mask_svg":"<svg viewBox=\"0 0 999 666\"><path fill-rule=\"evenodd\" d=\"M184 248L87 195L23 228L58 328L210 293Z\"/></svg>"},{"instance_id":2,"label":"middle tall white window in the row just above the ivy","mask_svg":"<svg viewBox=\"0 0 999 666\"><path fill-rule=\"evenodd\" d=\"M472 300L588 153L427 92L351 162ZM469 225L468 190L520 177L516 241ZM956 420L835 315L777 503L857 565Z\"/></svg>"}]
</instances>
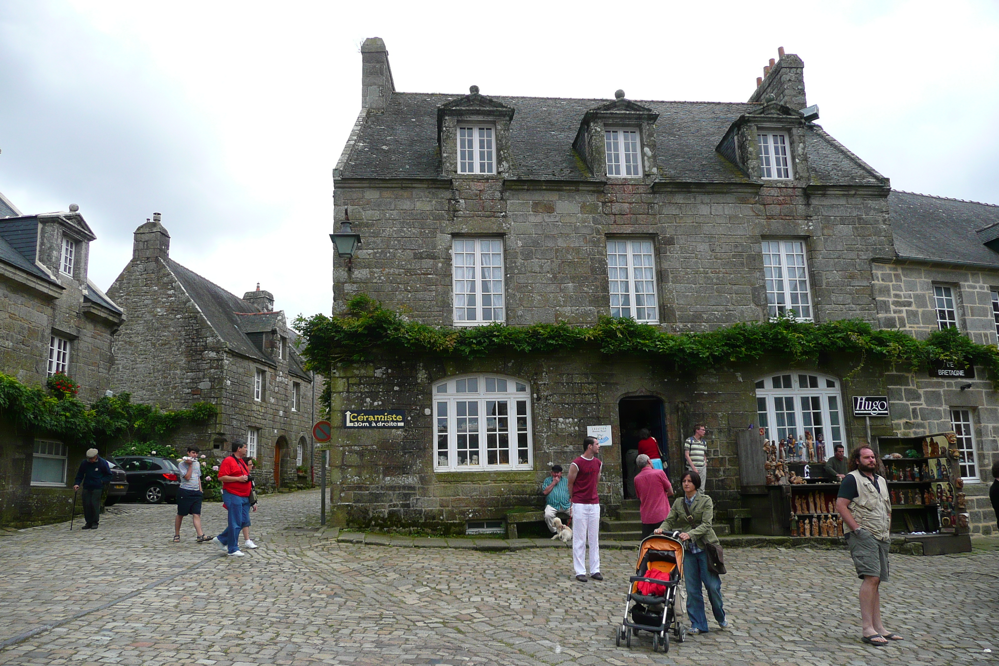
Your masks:
<instances>
[{"instance_id":1,"label":"middle tall white window in the row just above the ivy","mask_svg":"<svg viewBox=\"0 0 999 666\"><path fill-rule=\"evenodd\" d=\"M659 321L651 241L607 241L610 317Z\"/></svg>"}]
</instances>

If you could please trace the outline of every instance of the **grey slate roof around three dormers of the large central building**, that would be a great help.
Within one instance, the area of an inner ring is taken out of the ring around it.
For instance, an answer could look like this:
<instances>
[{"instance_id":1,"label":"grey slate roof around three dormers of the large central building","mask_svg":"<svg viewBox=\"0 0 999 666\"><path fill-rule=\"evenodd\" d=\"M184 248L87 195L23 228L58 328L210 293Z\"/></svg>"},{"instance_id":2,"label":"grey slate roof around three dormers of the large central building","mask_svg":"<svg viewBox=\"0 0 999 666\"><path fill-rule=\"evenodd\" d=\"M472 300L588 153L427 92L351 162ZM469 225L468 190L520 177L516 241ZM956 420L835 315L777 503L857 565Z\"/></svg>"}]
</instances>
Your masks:
<instances>
[{"instance_id":1,"label":"grey slate roof around three dormers of the large central building","mask_svg":"<svg viewBox=\"0 0 999 666\"><path fill-rule=\"evenodd\" d=\"M346 160L342 178L441 179L438 107L461 95L393 93L384 113L370 113ZM592 180L572 150L587 111L610 100L543 97L491 99L514 109L510 122L510 178ZM729 126L760 104L633 100L659 114L656 147L659 180L747 183L715 151ZM806 129L809 165L816 184L884 185L817 125Z\"/></svg>"}]
</instances>

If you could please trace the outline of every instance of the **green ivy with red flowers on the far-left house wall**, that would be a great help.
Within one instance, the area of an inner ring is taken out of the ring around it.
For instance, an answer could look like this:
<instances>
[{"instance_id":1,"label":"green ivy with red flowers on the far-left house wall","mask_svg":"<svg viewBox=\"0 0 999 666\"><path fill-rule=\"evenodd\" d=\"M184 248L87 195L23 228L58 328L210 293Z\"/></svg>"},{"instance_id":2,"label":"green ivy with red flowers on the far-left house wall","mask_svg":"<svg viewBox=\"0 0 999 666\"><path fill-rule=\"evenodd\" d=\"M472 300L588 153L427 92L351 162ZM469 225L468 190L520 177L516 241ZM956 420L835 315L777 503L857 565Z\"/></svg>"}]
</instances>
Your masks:
<instances>
[{"instance_id":1,"label":"green ivy with red flowers on the far-left house wall","mask_svg":"<svg viewBox=\"0 0 999 666\"><path fill-rule=\"evenodd\" d=\"M129 393L105 396L90 408L63 389L46 392L0 372L0 414L28 432L44 432L67 443L94 444L124 437L156 441L185 423L204 423L219 413L208 402L190 409L163 411L159 406L132 402Z\"/></svg>"}]
</instances>

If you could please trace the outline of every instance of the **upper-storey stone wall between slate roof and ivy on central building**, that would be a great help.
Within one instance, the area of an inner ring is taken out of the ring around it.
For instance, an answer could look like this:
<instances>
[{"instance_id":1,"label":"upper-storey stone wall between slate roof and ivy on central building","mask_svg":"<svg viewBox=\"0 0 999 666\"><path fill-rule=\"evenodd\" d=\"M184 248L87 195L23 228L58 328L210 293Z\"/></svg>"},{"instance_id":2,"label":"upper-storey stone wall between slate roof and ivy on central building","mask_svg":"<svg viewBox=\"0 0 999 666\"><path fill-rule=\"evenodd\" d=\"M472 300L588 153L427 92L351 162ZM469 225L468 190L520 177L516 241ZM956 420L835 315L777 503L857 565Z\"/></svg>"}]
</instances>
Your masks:
<instances>
[{"instance_id":1,"label":"upper-storey stone wall between slate roof and ivy on central building","mask_svg":"<svg viewBox=\"0 0 999 666\"><path fill-rule=\"evenodd\" d=\"M609 314L612 236L654 241L660 322L672 331L764 320L760 242L786 237L806 239L818 321L873 323L870 260L891 253L885 199L807 197L788 187L739 195L608 184L594 192L455 179L452 189L338 184L335 203L363 239L352 272L335 262L335 312L363 293L433 325L453 324L456 236L502 238L511 325L593 324Z\"/></svg>"}]
</instances>

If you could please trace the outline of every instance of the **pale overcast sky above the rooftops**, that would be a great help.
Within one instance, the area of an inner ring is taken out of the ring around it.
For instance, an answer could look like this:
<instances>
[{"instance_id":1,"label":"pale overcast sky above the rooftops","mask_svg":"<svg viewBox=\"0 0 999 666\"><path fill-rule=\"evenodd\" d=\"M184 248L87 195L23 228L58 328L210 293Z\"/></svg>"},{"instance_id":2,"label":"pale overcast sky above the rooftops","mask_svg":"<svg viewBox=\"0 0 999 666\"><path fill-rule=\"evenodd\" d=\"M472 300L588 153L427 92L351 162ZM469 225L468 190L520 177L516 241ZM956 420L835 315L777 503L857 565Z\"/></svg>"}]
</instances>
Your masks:
<instances>
[{"instance_id":1,"label":"pale overcast sky above the rooftops","mask_svg":"<svg viewBox=\"0 0 999 666\"><path fill-rule=\"evenodd\" d=\"M178 262L328 313L331 170L378 36L401 91L636 100L745 101L783 46L818 122L893 187L999 204L999 4L773 9L0 0L0 192L79 204L102 289L158 211Z\"/></svg>"}]
</instances>

